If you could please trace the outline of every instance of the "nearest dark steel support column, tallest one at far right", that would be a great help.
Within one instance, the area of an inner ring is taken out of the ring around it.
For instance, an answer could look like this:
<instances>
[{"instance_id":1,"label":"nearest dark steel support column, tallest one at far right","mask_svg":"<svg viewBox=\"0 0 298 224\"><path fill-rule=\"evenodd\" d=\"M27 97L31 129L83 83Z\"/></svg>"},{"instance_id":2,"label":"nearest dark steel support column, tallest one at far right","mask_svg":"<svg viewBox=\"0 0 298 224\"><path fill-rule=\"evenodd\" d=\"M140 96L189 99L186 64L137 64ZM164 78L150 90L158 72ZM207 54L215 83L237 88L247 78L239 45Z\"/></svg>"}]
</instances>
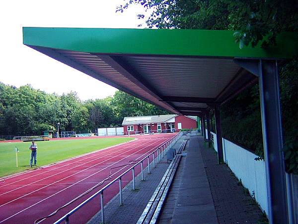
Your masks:
<instances>
[{"instance_id":1,"label":"nearest dark steel support column, tallest one at far right","mask_svg":"<svg viewBox=\"0 0 298 224\"><path fill-rule=\"evenodd\" d=\"M259 61L259 87L269 223L288 224L286 170L277 62Z\"/></svg>"}]
</instances>

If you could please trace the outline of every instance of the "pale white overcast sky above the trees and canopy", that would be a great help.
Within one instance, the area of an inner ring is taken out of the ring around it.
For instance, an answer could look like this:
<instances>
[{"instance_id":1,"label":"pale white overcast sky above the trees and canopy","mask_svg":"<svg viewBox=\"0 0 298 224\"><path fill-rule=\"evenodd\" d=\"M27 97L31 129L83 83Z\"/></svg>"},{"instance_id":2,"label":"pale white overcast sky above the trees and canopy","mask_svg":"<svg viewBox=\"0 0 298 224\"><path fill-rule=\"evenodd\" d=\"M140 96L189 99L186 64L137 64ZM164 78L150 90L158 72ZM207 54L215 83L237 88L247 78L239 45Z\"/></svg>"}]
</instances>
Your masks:
<instances>
[{"instance_id":1,"label":"pale white overcast sky above the trees and canopy","mask_svg":"<svg viewBox=\"0 0 298 224\"><path fill-rule=\"evenodd\" d=\"M123 0L3 0L0 3L0 82L30 84L47 93L75 91L81 100L102 99L115 88L22 44L22 27L138 28L141 5L115 12Z\"/></svg>"}]
</instances>

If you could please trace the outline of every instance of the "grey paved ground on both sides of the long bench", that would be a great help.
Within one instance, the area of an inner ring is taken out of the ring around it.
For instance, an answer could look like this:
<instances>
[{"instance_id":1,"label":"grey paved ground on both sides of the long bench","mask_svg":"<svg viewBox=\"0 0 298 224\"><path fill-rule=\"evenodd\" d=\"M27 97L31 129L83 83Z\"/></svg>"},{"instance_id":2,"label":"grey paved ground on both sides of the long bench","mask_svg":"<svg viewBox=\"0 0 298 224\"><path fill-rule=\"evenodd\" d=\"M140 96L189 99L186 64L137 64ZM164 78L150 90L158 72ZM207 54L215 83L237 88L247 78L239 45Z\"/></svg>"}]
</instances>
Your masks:
<instances>
[{"instance_id":1,"label":"grey paved ground on both sides of the long bench","mask_svg":"<svg viewBox=\"0 0 298 224\"><path fill-rule=\"evenodd\" d=\"M230 169L218 165L215 150L204 146L203 137L182 136L174 145L189 141L183 151L171 189L159 216L159 224L265 224L266 219L238 182ZM142 215L169 163L164 157L151 174L145 169L145 181L139 175L136 191L128 184L123 190L124 205L119 206L119 195L105 206L106 224L135 224ZM101 223L101 213L88 224Z\"/></svg>"}]
</instances>

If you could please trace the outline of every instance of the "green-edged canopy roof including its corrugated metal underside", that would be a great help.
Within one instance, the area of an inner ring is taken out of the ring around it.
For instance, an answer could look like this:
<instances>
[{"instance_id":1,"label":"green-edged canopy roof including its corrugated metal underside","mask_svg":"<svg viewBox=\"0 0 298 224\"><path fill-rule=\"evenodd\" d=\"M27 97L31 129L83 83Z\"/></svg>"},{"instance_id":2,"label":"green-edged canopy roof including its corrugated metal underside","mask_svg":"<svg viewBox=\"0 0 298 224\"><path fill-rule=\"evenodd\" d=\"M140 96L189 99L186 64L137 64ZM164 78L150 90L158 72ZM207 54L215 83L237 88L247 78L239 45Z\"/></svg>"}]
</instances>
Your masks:
<instances>
[{"instance_id":1,"label":"green-edged canopy roof including its corrugated metal underside","mask_svg":"<svg viewBox=\"0 0 298 224\"><path fill-rule=\"evenodd\" d=\"M170 112L197 115L257 79L234 59L287 59L293 33L276 46L239 49L233 31L23 27L23 43Z\"/></svg>"}]
</instances>

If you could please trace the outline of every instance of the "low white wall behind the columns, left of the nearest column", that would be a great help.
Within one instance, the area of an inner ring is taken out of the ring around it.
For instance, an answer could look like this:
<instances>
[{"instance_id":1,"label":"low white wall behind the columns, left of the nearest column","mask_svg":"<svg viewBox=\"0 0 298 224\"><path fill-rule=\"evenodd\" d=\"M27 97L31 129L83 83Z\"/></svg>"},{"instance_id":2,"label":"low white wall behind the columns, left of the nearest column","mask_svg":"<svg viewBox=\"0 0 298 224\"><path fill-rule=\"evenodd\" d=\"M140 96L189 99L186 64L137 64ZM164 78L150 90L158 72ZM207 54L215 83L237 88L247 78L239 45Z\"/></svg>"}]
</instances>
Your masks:
<instances>
[{"instance_id":1,"label":"low white wall behind the columns, left of the nearest column","mask_svg":"<svg viewBox=\"0 0 298 224\"><path fill-rule=\"evenodd\" d=\"M214 148L217 151L217 138L214 136ZM257 155L223 138L224 162L235 174L266 214L268 214L265 162L254 160Z\"/></svg>"}]
</instances>

